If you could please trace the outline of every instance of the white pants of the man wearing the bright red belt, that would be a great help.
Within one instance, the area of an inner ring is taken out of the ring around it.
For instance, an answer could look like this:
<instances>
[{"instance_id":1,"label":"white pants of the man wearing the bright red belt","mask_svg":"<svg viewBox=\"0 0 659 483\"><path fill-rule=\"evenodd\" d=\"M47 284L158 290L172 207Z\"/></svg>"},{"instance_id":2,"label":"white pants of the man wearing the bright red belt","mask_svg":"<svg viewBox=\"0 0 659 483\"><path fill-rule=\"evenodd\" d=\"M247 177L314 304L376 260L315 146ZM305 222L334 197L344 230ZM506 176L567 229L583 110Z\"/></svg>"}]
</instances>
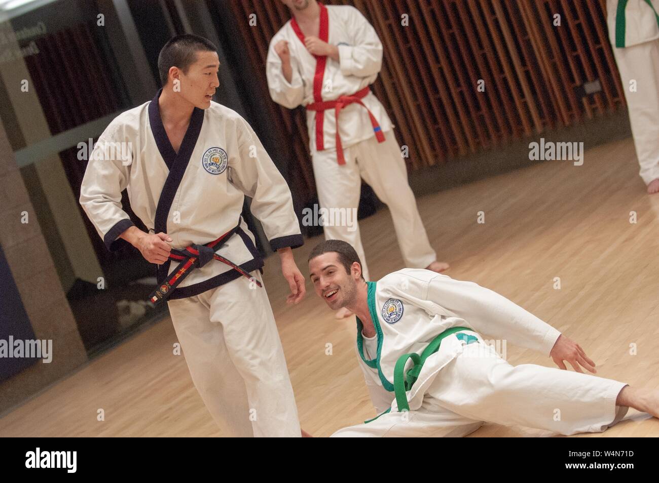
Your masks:
<instances>
[{"instance_id":1,"label":"white pants of the man wearing the bright red belt","mask_svg":"<svg viewBox=\"0 0 659 483\"><path fill-rule=\"evenodd\" d=\"M407 183L407 168L393 130L384 133L384 143L375 136L343 149L345 165L339 165L336 150L312 153L314 176L320 207L325 209L357 210L364 178L378 198L389 207L393 228L403 252L405 267L426 268L437 257L416 208L416 199ZM347 241L357 251L366 280L368 268L359 226L324 226L326 240Z\"/></svg>"}]
</instances>

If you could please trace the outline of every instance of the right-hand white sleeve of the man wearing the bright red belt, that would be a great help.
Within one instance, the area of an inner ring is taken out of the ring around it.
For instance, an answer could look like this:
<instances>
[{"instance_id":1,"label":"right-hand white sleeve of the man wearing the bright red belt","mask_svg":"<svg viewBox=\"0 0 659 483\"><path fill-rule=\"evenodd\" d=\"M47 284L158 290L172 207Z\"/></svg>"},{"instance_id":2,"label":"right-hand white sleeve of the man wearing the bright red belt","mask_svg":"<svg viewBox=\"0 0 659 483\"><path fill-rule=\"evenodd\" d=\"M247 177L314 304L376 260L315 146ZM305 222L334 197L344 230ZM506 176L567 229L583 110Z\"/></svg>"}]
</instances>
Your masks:
<instances>
[{"instance_id":1,"label":"right-hand white sleeve of the man wearing the bright red belt","mask_svg":"<svg viewBox=\"0 0 659 483\"><path fill-rule=\"evenodd\" d=\"M338 45L339 65L344 76L368 77L382 68L382 42L360 11L351 7L345 16L353 45Z\"/></svg>"}]
</instances>

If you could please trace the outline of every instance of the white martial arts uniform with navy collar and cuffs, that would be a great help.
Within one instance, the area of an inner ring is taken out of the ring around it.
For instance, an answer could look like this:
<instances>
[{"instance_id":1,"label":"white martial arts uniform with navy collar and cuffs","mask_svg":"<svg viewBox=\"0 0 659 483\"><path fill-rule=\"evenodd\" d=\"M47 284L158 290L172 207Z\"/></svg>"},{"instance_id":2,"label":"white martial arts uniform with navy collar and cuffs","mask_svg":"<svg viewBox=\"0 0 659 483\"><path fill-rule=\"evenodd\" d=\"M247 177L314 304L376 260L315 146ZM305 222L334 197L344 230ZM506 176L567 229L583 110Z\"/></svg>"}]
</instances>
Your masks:
<instances>
[{"instance_id":1,"label":"white martial arts uniform with navy collar and cuffs","mask_svg":"<svg viewBox=\"0 0 659 483\"><path fill-rule=\"evenodd\" d=\"M178 154L163 127L158 97L115 118L101 134L80 188L80 203L108 249L132 226L130 206L150 233L175 249L231 232L215 253L261 280L264 265L241 217L244 195L273 249L302 245L289 188L249 124L211 103L195 108ZM127 160L107 149L130 146ZM158 266L158 282L177 263ZM215 420L236 436L300 436L293 389L265 288L216 260L169 292L172 322L192 381Z\"/></svg>"}]
</instances>

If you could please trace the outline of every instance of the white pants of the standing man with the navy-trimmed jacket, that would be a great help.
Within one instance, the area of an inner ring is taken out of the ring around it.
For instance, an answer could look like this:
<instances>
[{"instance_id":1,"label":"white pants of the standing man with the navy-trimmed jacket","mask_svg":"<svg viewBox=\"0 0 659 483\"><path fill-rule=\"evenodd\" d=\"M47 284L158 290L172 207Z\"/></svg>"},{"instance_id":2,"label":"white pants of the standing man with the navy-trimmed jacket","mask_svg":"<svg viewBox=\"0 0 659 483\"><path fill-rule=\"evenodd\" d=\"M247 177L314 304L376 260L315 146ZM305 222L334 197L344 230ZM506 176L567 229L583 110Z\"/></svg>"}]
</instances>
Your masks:
<instances>
[{"instance_id":1,"label":"white pants of the standing man with the navy-trimmed jacket","mask_svg":"<svg viewBox=\"0 0 659 483\"><path fill-rule=\"evenodd\" d=\"M251 274L262 282L258 270ZM245 277L167 302L192 382L233 436L299 437L295 397L265 286Z\"/></svg>"}]
</instances>

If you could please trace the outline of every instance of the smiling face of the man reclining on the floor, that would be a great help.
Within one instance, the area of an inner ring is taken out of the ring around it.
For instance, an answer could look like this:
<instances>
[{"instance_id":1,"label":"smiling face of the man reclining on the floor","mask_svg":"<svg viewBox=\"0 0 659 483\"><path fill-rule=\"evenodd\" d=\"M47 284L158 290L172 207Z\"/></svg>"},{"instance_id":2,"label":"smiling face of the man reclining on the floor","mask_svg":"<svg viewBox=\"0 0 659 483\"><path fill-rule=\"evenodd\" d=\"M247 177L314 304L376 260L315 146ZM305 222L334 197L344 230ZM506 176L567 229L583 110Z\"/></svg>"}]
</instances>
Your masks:
<instances>
[{"instance_id":1,"label":"smiling face of the man reclining on the floor","mask_svg":"<svg viewBox=\"0 0 659 483\"><path fill-rule=\"evenodd\" d=\"M328 251L310 259L309 273L314 290L330 309L337 310L355 303L357 282L362 276L359 263L354 262L348 273L339 254Z\"/></svg>"}]
</instances>

